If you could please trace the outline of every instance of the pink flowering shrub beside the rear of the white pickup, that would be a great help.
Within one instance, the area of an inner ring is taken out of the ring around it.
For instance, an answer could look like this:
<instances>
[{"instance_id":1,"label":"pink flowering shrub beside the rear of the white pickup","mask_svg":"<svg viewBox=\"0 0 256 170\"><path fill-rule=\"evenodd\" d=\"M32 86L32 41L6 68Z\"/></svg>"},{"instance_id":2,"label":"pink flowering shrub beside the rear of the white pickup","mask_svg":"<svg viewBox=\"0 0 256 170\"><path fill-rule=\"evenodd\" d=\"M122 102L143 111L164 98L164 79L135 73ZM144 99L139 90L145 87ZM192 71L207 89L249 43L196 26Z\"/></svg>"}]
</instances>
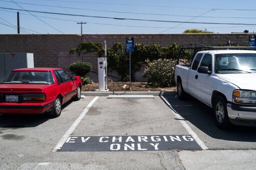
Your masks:
<instances>
[{"instance_id":1,"label":"pink flowering shrub beside the rear of the white pickup","mask_svg":"<svg viewBox=\"0 0 256 170\"><path fill-rule=\"evenodd\" d=\"M152 62L146 59L143 77L154 86L172 87L175 85L174 70L176 62L176 59L160 58ZM188 64L187 59L179 59L179 64Z\"/></svg>"}]
</instances>

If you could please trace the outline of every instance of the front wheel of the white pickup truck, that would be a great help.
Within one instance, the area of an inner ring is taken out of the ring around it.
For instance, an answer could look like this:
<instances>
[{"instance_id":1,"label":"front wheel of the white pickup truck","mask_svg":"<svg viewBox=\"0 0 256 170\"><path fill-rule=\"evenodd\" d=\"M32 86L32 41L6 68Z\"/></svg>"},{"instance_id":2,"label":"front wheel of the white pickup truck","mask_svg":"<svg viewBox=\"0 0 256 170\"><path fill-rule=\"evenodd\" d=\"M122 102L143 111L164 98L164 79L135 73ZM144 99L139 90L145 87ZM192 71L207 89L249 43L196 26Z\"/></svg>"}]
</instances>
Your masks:
<instances>
[{"instance_id":1,"label":"front wheel of the white pickup truck","mask_svg":"<svg viewBox=\"0 0 256 170\"><path fill-rule=\"evenodd\" d=\"M230 126L230 122L226 110L226 100L217 96L213 105L213 116L215 123L220 129L227 129Z\"/></svg>"}]
</instances>

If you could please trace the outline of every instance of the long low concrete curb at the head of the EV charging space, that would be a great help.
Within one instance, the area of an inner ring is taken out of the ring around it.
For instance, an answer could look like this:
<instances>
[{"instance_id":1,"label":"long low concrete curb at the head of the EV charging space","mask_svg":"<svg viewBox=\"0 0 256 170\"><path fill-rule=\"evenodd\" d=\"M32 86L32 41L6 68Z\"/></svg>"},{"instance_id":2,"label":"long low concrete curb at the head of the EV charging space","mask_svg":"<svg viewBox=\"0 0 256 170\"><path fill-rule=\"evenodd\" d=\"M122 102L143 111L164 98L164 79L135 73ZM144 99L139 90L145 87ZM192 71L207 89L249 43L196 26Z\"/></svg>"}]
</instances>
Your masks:
<instances>
[{"instance_id":1,"label":"long low concrete curb at the head of the EV charging space","mask_svg":"<svg viewBox=\"0 0 256 170\"><path fill-rule=\"evenodd\" d=\"M175 96L176 92L168 91L148 91L148 92L81 92L84 96L109 96L109 95L153 95L153 96Z\"/></svg>"}]
</instances>

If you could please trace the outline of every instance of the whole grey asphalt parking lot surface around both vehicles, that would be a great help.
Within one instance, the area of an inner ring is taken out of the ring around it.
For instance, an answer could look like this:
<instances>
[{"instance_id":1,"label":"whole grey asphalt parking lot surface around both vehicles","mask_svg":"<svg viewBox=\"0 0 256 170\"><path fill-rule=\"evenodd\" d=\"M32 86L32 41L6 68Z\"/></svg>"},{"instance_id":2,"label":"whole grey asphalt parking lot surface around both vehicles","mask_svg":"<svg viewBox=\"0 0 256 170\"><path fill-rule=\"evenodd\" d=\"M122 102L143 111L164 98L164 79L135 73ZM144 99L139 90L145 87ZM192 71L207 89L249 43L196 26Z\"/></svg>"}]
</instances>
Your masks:
<instances>
[{"instance_id":1,"label":"whole grey asphalt parking lot surface around both vehicles","mask_svg":"<svg viewBox=\"0 0 256 170\"><path fill-rule=\"evenodd\" d=\"M0 169L182 170L194 168L196 158L203 168L203 153L210 158L209 150L253 150L255 139L253 128L217 129L210 108L194 99L179 101L174 93L85 96L65 104L55 119L0 116Z\"/></svg>"}]
</instances>

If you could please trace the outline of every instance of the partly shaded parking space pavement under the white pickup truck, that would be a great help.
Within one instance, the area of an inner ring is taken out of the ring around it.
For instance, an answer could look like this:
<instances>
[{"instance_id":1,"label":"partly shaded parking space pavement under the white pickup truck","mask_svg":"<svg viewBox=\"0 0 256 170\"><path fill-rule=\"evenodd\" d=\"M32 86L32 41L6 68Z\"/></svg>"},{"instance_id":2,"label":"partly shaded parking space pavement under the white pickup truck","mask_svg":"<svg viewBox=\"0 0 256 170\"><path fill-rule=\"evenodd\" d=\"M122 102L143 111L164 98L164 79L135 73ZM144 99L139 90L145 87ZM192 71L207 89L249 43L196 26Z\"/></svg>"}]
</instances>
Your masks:
<instances>
[{"instance_id":1,"label":"partly shaded parking space pavement under the white pickup truck","mask_svg":"<svg viewBox=\"0 0 256 170\"><path fill-rule=\"evenodd\" d=\"M165 98L209 150L256 149L256 128L231 126L229 130L220 130L214 124L211 108L198 100L192 97L184 101L175 96Z\"/></svg>"}]
</instances>

